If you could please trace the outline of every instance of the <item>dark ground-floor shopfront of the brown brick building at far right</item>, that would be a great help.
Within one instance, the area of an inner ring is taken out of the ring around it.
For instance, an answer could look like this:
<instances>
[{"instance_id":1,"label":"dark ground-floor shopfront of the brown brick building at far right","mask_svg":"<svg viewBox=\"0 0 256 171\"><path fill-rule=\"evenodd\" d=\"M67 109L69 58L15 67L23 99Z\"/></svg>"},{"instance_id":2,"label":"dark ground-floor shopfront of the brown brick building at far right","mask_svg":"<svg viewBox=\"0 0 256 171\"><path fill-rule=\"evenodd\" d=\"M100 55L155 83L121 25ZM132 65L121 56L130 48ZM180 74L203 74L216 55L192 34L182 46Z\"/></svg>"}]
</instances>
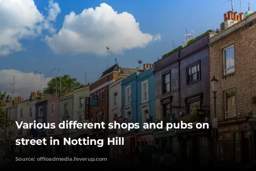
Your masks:
<instances>
[{"instance_id":1,"label":"dark ground-floor shopfront of the brown brick building at far right","mask_svg":"<svg viewBox=\"0 0 256 171\"><path fill-rule=\"evenodd\" d=\"M218 128L218 162L224 165L247 164L251 161L252 134L249 123L237 123Z\"/></svg>"}]
</instances>

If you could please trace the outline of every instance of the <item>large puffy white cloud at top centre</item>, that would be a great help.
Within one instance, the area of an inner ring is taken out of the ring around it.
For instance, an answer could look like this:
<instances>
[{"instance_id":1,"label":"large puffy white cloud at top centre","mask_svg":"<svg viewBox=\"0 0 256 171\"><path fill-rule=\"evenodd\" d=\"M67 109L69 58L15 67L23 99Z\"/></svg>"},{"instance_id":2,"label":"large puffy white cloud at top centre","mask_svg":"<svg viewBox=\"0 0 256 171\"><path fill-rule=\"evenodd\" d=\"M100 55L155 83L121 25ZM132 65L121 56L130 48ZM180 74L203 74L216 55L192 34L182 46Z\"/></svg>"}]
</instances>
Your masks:
<instances>
[{"instance_id":1,"label":"large puffy white cloud at top centre","mask_svg":"<svg viewBox=\"0 0 256 171\"><path fill-rule=\"evenodd\" d=\"M106 47L121 53L127 49L143 48L160 39L160 34L143 33L132 14L117 13L105 3L95 9L84 9L80 14L72 11L65 16L58 33L46 36L48 45L57 54L105 55Z\"/></svg>"}]
</instances>

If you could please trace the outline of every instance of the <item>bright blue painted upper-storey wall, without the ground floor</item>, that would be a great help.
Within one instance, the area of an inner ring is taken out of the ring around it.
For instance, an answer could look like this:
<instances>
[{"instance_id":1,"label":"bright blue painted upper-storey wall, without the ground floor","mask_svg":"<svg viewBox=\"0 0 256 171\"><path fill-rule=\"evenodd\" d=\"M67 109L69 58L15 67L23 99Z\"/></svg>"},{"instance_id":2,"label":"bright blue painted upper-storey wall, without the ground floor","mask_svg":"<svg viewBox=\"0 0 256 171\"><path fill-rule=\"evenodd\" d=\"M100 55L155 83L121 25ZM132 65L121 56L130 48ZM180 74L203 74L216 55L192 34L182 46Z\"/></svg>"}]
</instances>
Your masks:
<instances>
[{"instance_id":1,"label":"bright blue painted upper-storey wall, without the ground floor","mask_svg":"<svg viewBox=\"0 0 256 171\"><path fill-rule=\"evenodd\" d=\"M139 132L148 131L143 130L143 123L155 122L155 78L153 74L154 68L151 68L143 73L135 73L121 82L122 89L122 117L130 120L132 123L139 123ZM147 98L145 91L143 91L143 84L147 83ZM128 91L130 89L130 100ZM143 112L147 110L147 115ZM131 119L128 114L131 112ZM151 130L152 131L152 130ZM122 131L125 132L125 131Z\"/></svg>"}]
</instances>

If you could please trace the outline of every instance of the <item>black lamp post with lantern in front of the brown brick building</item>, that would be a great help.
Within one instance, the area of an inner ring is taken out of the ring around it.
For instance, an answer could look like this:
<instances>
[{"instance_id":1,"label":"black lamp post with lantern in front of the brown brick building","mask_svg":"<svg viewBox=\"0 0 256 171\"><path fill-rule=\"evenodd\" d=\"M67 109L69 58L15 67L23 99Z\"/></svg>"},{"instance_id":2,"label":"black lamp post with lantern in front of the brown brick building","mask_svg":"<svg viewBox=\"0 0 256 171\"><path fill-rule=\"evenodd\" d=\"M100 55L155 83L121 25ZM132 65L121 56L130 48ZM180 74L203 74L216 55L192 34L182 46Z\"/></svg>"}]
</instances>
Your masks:
<instances>
[{"instance_id":1,"label":"black lamp post with lantern in front of the brown brick building","mask_svg":"<svg viewBox=\"0 0 256 171\"><path fill-rule=\"evenodd\" d=\"M212 93L214 93L214 117L216 118L216 86L217 86L217 83L218 83L218 80L215 78L212 78L210 80L211 82L211 89L212 89ZM215 127L215 163L217 164L217 127Z\"/></svg>"}]
</instances>

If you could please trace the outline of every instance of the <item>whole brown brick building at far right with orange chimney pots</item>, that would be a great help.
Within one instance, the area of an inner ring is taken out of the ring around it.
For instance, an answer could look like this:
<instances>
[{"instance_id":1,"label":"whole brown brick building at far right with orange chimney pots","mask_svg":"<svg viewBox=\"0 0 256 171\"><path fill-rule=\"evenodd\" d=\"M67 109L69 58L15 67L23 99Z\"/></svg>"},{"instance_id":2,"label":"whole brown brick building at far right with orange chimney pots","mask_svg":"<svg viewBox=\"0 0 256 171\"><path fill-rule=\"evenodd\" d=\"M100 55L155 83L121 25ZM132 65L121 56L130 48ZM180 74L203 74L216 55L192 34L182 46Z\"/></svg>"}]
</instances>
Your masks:
<instances>
[{"instance_id":1,"label":"whole brown brick building at far right with orange chimney pots","mask_svg":"<svg viewBox=\"0 0 256 171\"><path fill-rule=\"evenodd\" d=\"M234 12L232 19L232 13L228 12L224 14L221 32L210 37L210 78L215 76L218 80L219 163L246 164L255 153L252 140L255 132L250 131L248 121L256 116L256 105L252 101L256 96L255 21L256 13L243 17L243 13ZM215 117L214 93L210 95L211 117Z\"/></svg>"}]
</instances>

